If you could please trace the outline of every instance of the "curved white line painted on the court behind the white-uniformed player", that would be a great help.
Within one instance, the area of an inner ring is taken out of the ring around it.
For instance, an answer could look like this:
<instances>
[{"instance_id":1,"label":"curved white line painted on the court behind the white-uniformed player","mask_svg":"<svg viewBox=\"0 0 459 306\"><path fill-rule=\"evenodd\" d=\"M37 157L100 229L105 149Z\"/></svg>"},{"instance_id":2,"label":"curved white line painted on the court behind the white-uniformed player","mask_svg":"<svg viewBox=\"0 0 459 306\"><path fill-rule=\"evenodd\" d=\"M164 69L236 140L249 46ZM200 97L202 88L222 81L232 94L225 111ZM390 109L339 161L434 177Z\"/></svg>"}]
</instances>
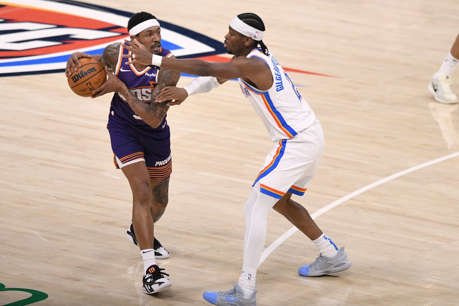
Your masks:
<instances>
[{"instance_id":1,"label":"curved white line painted on the court behind the white-uniformed player","mask_svg":"<svg viewBox=\"0 0 459 306\"><path fill-rule=\"evenodd\" d=\"M453 153L453 154L449 154L449 155L446 155L446 156L443 156L443 157L440 157L440 158L437 158L437 159L433 159L429 162L426 162L424 164L419 164L417 166L414 166L412 168L409 168L409 169L406 169L406 170L403 170L403 171L400 171L396 174L393 174L393 175L390 175L390 176L387 176L385 177L384 179L381 179L381 180L378 180L378 181L375 181L374 183L371 183L365 187L362 187L352 193L349 193L347 196L344 196L342 197L341 199L338 199L336 200L335 202L331 202L330 204L328 204L327 206L323 207L323 208L320 208L318 211L316 211L315 213L311 214L311 218L312 219L315 219L317 217L319 217L321 214L329 211L331 208L334 208L335 206L338 206L339 204L341 204L342 202L344 201L347 201L355 196L358 196L359 194L373 188L373 187L376 187L376 186L379 186L383 183L386 183L388 182L389 180L393 180L393 179L396 179L397 177L400 177L402 175L405 175L405 174L408 174L410 172L413 172L413 171L416 171L416 170L419 170L419 169L422 169L424 167L427 167L427 166L430 166L432 164L437 164L439 162L442 162L444 160L447 160L447 159L450 159L450 158L454 158L454 157L457 157L459 156L459 152L456 152L456 153ZM297 231L297 227L292 227L290 230L287 230L284 234L282 234L279 238L277 238L273 243L271 243L271 245L269 245L264 251L263 253L261 254L261 258L260 258L260 262L258 262L258 267L260 267L260 265L264 262L264 260L269 256L269 254L271 254L272 251L274 251L278 246L280 246L280 244L282 242L284 242L288 237L290 237L291 235L293 235L293 233L295 233Z\"/></svg>"}]
</instances>

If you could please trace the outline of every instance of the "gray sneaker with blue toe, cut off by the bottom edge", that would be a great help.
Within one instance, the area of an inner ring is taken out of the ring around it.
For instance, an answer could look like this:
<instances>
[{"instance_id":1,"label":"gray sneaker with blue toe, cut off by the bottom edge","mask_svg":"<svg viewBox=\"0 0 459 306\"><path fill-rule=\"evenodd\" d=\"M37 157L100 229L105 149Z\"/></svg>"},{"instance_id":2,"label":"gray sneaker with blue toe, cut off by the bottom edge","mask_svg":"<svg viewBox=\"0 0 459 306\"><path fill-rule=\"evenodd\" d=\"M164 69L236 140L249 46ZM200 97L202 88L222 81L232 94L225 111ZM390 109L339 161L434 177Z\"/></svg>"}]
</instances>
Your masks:
<instances>
[{"instance_id":1,"label":"gray sneaker with blue toe, cut off by the bottom edge","mask_svg":"<svg viewBox=\"0 0 459 306\"><path fill-rule=\"evenodd\" d=\"M253 291L247 299L242 295L241 287L233 282L233 289L228 291L207 291L202 294L204 300L218 306L257 306L257 290Z\"/></svg>"}]
</instances>

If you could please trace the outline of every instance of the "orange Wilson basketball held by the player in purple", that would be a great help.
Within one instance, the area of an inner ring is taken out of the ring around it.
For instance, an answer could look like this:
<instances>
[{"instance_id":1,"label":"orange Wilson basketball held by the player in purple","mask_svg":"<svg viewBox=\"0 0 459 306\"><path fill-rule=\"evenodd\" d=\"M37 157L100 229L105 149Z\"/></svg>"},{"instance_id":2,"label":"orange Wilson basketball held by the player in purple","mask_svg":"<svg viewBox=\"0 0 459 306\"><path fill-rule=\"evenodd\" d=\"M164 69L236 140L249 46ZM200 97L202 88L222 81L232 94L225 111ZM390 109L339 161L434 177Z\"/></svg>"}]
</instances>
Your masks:
<instances>
[{"instance_id":1,"label":"orange Wilson basketball held by the player in purple","mask_svg":"<svg viewBox=\"0 0 459 306\"><path fill-rule=\"evenodd\" d=\"M83 57L79 61L81 67L67 76L68 86L78 96L90 97L94 89L105 83L107 74L98 60Z\"/></svg>"}]
</instances>

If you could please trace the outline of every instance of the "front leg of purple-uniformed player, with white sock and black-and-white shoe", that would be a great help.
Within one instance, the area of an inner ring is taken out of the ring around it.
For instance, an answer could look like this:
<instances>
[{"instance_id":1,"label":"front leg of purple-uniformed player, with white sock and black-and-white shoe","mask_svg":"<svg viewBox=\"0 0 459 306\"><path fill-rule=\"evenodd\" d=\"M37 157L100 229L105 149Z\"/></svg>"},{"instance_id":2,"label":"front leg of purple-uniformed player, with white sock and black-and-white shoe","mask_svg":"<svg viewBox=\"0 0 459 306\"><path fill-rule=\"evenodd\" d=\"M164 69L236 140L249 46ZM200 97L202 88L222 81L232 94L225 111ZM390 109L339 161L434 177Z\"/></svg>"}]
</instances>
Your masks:
<instances>
[{"instance_id":1,"label":"front leg of purple-uniformed player, with white sock and black-and-white shoe","mask_svg":"<svg viewBox=\"0 0 459 306\"><path fill-rule=\"evenodd\" d=\"M132 224L145 271L142 290L147 294L157 293L168 289L172 282L164 276L168 274L161 272L163 269L157 266L155 260L150 176L144 161L123 166L121 169L132 190Z\"/></svg>"}]
</instances>

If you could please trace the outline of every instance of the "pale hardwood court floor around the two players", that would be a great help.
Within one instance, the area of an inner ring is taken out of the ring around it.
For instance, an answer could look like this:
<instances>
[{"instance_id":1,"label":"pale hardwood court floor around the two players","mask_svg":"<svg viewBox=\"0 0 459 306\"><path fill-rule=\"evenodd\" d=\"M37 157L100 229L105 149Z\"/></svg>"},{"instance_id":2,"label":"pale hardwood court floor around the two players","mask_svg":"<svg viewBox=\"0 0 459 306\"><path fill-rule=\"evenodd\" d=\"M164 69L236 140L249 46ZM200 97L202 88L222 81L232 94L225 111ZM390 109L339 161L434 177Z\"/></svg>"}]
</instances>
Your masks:
<instances>
[{"instance_id":1,"label":"pale hardwood court floor around the two players","mask_svg":"<svg viewBox=\"0 0 459 306\"><path fill-rule=\"evenodd\" d=\"M305 197L295 197L310 213L459 151L458 104L439 104L427 91L459 32L457 1L96 4L149 11L222 42L229 20L253 11L282 66L335 76L289 73L325 131L318 173ZM459 80L458 71L454 76ZM0 84L1 284L48 294L37 306L187 306L210 305L204 291L237 281L242 207L272 143L236 82L168 113L174 173L155 234L171 253L158 263L174 285L154 296L140 289L139 250L125 236L132 196L112 164L105 128L111 95L79 98L63 73ZM297 231L261 264L257 305L459 305L458 186L453 157L325 211L316 222L346 246L352 268L299 276L317 249ZM274 211L268 225L266 246L291 229ZM0 287L0 305L28 296Z\"/></svg>"}]
</instances>

